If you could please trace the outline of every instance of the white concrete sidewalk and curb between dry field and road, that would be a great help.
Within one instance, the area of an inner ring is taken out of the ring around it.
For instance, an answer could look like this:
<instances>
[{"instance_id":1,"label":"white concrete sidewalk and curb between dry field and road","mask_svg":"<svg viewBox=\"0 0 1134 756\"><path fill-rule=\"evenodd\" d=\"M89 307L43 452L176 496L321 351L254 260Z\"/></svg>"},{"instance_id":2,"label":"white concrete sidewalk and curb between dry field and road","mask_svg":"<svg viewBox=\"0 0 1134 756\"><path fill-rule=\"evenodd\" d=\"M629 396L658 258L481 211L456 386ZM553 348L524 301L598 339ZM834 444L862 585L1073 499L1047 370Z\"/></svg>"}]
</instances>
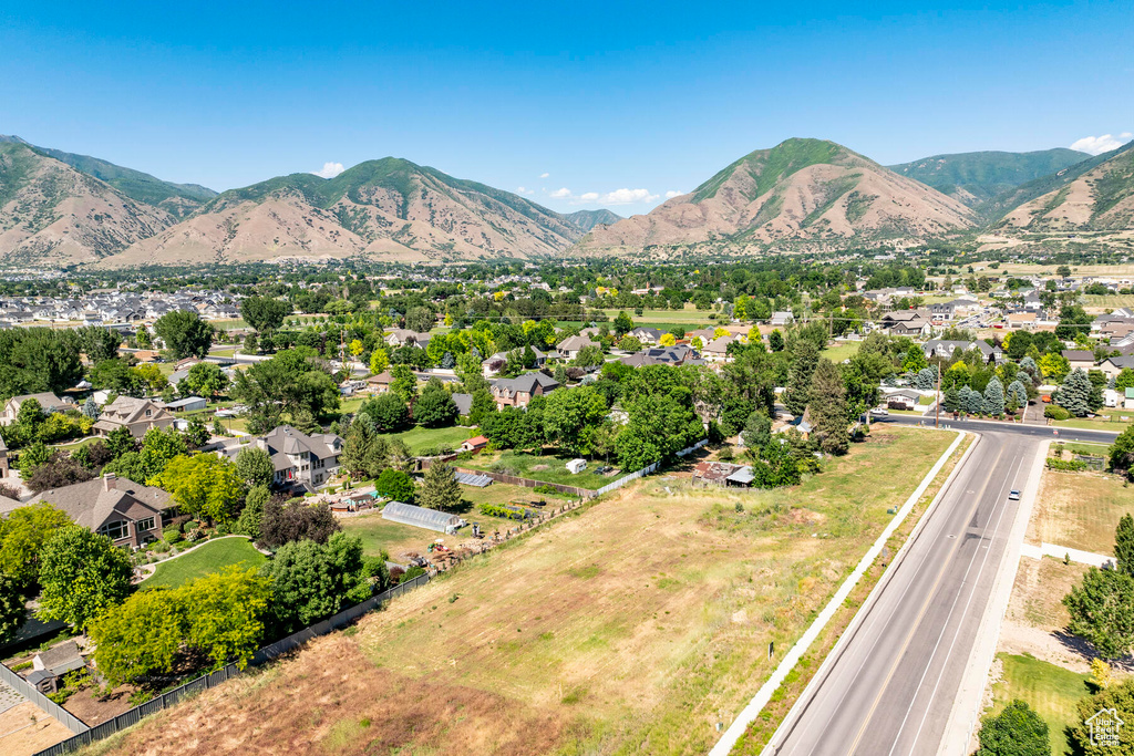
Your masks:
<instances>
[{"instance_id":1,"label":"white concrete sidewalk and curb between dry field and road","mask_svg":"<svg viewBox=\"0 0 1134 756\"><path fill-rule=\"evenodd\" d=\"M941 457L937 460L933 467L930 468L929 473L925 474L925 477L922 478L922 482L917 485L914 492L909 494L909 498L906 499L906 502L902 506L900 509L898 509L898 512L890 519L889 524L886 526L886 528L883 528L882 533L874 541L873 545L866 551L863 558L858 561L858 564L855 567L855 569L850 572L850 575L847 576L847 578L843 581L843 585L839 586L838 591L835 592L835 595L831 596L830 601L828 601L827 604L823 606L823 609L820 611L814 622L812 622L807 627L807 629L804 630L803 635L799 636L799 639L795 642L795 644L792 646L790 649L788 649L784 659L780 660L780 663L776 665L776 669L772 671L771 677L769 677L768 680L764 681L764 683L756 691L756 695L753 696L752 700L748 702L748 704L741 711L741 714L733 721L733 723L728 727L728 729L725 730L725 733L720 737L717 744L709 751L710 756L727 756L733 750L733 747L736 746L737 740L739 740L741 737L744 734L744 732L748 729L748 725L756 720L763 707L768 705L769 700L771 700L772 694L775 694L776 690L780 687L780 685L782 685L788 673L790 673L790 671L795 669L795 665L799 662L803 655L811 647L811 644L815 642L815 639L819 637L819 634L823 631L823 629L827 627L827 623L830 622L831 618L835 617L839 608L843 606L844 602L847 600L847 596L850 595L850 592L855 588L855 586L858 585L858 581L862 579L862 576L865 575L866 570L870 569L870 567L874 563L874 560L878 559L879 554L882 553L882 549L886 546L886 542L890 540L890 536L894 535L894 532L897 530L898 526L902 525L903 521L905 521L906 517L921 500L922 495L924 495L926 489L929 489L929 486L937 478L938 474L945 467L946 462L948 462L948 460L953 457L954 452L956 452L957 448L960 445L960 442L965 439L966 435L970 435L970 432L967 431L954 431L954 433L957 434L957 438L954 439L953 443L949 444L949 448L945 450L945 453L941 455ZM950 473L949 477L946 478L945 483L942 483L941 490L938 492L938 495L934 496L933 502L931 502L930 507L926 508L925 510L926 515L929 513L933 504L937 503L937 500L940 499L941 492L946 490L949 482L953 479L954 474L956 473L957 469L962 467L963 461L965 460L965 458L967 458L968 453L975 445L976 445L975 443L972 444L965 451L964 457L962 457L962 459L958 460L957 465L953 469L953 473ZM925 515L923 515L921 519L924 520ZM914 533L916 533L916 528ZM914 537L914 533L911 533L911 537L906 540L907 543ZM895 559L891 560L890 562L891 568L894 566L894 562L898 560L902 553L904 553L903 550L899 550ZM886 574L883 574L882 576L882 580L886 579L886 575L888 575L890 569L888 568ZM879 585L874 586L874 589L871 591L870 594L871 596L874 595L874 591L877 591L878 587L882 584L882 580L879 580ZM870 598L868 597L866 602L863 605L865 606L865 604L869 602ZM858 618L861 611L862 609L860 608L860 611L855 613L855 619L850 621L850 626L848 626L847 628L848 630L850 629L850 627L854 626L855 620ZM845 638L847 635L848 632L845 631L843 636L839 638L839 643L841 643L843 638ZM823 661L823 664L815 672L815 677L812 678L812 681L819 679L819 677L823 673L828 660L830 660L835 655L835 652L838 648L839 643L836 643L835 647L832 647L830 653L827 654L827 659ZM810 687L811 685L809 683L807 688ZM803 700L805 698L807 694L807 688L804 689L804 693L803 695L801 695L799 700ZM796 705L788 711L787 716L784 717L784 722L790 720L793 713L795 712L796 706L798 706L798 700L796 702ZM782 722L780 727L782 727ZM775 740L775 733L772 736L772 740ZM771 747L772 740L770 740L769 745L764 748L764 753L770 753L768 749Z\"/></svg>"}]
</instances>

